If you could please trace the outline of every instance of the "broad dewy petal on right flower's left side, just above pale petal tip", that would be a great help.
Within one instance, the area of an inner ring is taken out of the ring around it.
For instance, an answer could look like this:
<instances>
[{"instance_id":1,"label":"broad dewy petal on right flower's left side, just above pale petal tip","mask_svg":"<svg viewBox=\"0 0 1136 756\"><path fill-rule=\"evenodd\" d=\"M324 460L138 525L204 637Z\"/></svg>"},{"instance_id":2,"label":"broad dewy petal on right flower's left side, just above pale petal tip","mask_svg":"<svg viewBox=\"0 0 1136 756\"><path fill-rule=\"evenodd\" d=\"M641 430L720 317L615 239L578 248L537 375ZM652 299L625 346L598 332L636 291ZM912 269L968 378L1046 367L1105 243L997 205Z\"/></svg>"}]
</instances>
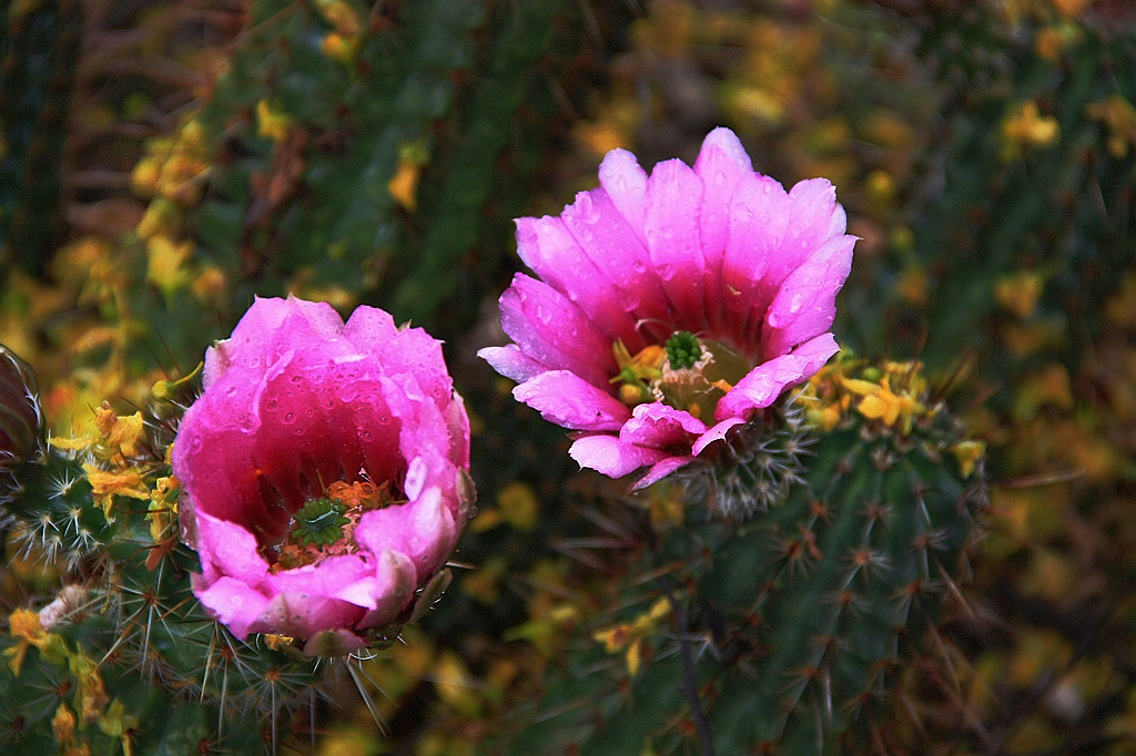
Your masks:
<instances>
[{"instance_id":1,"label":"broad dewy petal on right flower's left side, just above pale petal tip","mask_svg":"<svg viewBox=\"0 0 1136 756\"><path fill-rule=\"evenodd\" d=\"M501 295L501 328L550 370L570 370L591 384L617 372L611 342L592 320L563 294L523 274Z\"/></svg>"}]
</instances>

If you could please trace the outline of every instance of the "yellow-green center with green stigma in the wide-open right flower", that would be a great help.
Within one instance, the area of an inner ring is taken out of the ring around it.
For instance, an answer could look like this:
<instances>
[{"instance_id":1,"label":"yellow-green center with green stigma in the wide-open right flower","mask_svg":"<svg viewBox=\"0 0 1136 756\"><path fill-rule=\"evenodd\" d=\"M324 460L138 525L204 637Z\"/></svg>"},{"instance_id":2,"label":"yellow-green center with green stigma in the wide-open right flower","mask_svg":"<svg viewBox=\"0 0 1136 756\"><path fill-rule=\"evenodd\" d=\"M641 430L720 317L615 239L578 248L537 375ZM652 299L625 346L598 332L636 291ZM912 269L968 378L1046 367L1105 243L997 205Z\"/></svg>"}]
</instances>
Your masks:
<instances>
[{"instance_id":1,"label":"yellow-green center with green stigma in the wide-open right flower","mask_svg":"<svg viewBox=\"0 0 1136 756\"><path fill-rule=\"evenodd\" d=\"M663 346L632 355L621 341L612 345L619 372L619 400L628 406L662 402L695 418L713 418L718 401L753 368L721 342L688 330L671 334Z\"/></svg>"}]
</instances>

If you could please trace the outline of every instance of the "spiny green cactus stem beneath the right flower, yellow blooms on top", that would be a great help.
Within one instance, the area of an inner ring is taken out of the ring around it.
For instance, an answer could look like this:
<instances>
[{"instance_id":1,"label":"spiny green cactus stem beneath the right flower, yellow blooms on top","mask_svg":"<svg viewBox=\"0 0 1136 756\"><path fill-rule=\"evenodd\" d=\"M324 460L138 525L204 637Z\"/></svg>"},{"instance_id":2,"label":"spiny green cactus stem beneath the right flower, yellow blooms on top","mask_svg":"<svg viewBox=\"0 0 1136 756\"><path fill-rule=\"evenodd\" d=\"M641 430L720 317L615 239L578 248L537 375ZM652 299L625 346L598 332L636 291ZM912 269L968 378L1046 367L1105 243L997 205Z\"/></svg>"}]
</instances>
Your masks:
<instances>
[{"instance_id":1,"label":"spiny green cactus stem beneath the right flower, yellow blooms on top","mask_svg":"<svg viewBox=\"0 0 1136 756\"><path fill-rule=\"evenodd\" d=\"M720 754L854 754L880 738L889 696L938 653L943 605L967 579L983 446L912 363L844 359L795 404L765 451L695 476L715 476L715 502L752 494L763 469L800 479L745 521L707 516L696 486L685 524L648 535L620 608L591 642L569 642L510 753L684 753L703 732Z\"/></svg>"}]
</instances>

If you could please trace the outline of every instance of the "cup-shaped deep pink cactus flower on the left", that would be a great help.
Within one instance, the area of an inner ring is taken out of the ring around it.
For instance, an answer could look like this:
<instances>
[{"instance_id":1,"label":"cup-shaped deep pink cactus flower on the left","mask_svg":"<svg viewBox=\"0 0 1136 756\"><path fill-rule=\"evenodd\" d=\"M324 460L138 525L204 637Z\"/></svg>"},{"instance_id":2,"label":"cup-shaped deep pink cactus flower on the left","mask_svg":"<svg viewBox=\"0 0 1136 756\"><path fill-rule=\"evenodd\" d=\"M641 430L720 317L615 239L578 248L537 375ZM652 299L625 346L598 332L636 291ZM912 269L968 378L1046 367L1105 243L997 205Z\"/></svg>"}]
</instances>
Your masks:
<instances>
[{"instance_id":1,"label":"cup-shaped deep pink cactus flower on the left","mask_svg":"<svg viewBox=\"0 0 1136 756\"><path fill-rule=\"evenodd\" d=\"M258 299L206 353L173 452L193 591L239 638L362 647L470 516L469 421L440 343L360 306Z\"/></svg>"}]
</instances>

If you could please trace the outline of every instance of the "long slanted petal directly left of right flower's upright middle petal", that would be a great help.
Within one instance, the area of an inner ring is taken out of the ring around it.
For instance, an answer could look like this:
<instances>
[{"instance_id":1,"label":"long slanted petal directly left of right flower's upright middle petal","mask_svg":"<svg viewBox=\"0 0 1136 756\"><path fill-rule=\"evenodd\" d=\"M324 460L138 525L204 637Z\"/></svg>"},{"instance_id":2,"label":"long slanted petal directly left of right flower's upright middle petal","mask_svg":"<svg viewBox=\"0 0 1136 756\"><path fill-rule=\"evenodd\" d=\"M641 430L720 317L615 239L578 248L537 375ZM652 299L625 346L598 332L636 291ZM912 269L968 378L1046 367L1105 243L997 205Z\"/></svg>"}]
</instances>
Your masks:
<instances>
[{"instance_id":1,"label":"long slanted petal directly left of right flower's upright middle petal","mask_svg":"<svg viewBox=\"0 0 1136 756\"><path fill-rule=\"evenodd\" d=\"M584 254L617 292L621 306L634 316L636 328L661 328L657 336L667 331L666 326L655 322L667 321L671 308L652 255L608 193L603 188L580 192L560 217ZM641 326L641 321L645 322Z\"/></svg>"}]
</instances>

